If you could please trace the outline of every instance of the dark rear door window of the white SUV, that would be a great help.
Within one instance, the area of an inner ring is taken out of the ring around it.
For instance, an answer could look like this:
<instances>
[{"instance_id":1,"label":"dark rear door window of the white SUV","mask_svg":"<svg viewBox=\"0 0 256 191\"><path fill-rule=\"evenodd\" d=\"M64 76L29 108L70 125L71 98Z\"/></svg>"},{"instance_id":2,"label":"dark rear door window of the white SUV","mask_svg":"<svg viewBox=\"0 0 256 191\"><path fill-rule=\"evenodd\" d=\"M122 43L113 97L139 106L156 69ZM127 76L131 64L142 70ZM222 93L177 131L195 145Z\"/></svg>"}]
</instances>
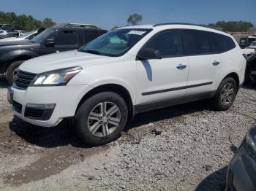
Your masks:
<instances>
[{"instance_id":1,"label":"dark rear door window of the white SUV","mask_svg":"<svg viewBox=\"0 0 256 191\"><path fill-rule=\"evenodd\" d=\"M189 47L187 52L189 55L206 55L213 52L207 32L184 30L184 33Z\"/></svg>"}]
</instances>

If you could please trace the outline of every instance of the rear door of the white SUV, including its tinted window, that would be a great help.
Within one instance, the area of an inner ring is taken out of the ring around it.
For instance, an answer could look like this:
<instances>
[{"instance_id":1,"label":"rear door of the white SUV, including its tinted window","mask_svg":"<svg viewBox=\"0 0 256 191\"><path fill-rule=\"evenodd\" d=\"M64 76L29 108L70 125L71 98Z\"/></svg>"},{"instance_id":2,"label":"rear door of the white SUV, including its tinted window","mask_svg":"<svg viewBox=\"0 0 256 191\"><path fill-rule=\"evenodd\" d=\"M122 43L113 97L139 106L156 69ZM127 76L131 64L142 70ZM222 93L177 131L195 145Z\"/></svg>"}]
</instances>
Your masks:
<instances>
[{"instance_id":1,"label":"rear door of the white SUV, including its tinted window","mask_svg":"<svg viewBox=\"0 0 256 191\"><path fill-rule=\"evenodd\" d=\"M214 47L206 31L184 30L189 58L189 76L187 95L211 93L219 77L220 56L214 53Z\"/></svg>"}]
</instances>

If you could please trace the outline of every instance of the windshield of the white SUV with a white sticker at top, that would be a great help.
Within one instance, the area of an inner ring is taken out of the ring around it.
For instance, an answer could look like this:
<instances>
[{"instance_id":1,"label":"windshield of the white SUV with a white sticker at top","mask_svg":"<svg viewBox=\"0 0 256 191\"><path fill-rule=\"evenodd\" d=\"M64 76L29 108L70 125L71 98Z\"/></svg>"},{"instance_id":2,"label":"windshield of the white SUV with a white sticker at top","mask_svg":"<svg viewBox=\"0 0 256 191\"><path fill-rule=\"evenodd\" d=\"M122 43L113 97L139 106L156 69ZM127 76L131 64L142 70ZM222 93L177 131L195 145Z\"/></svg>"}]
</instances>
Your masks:
<instances>
[{"instance_id":1,"label":"windshield of the white SUV with a white sticker at top","mask_svg":"<svg viewBox=\"0 0 256 191\"><path fill-rule=\"evenodd\" d=\"M144 28L116 29L99 36L86 46L81 47L79 51L113 57L124 55L150 31L151 29Z\"/></svg>"}]
</instances>

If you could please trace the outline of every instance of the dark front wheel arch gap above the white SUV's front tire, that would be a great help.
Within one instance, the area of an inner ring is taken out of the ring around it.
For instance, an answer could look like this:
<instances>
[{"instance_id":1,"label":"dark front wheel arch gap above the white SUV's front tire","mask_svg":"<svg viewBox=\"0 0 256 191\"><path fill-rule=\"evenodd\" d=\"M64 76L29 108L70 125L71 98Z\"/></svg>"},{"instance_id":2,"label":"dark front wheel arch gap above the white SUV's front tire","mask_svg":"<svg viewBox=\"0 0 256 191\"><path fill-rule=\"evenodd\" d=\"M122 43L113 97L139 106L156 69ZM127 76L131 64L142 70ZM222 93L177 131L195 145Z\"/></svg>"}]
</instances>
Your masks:
<instances>
[{"instance_id":1,"label":"dark front wheel arch gap above the white SUV's front tire","mask_svg":"<svg viewBox=\"0 0 256 191\"><path fill-rule=\"evenodd\" d=\"M117 93L118 95L121 95L122 98L124 98L124 101L127 103L127 107L129 110L129 115L128 115L129 120L132 120L132 118L135 114L135 109L132 104L132 97L131 97L129 91L127 90L126 87L124 87L122 85L112 84L112 83L94 87L93 89L89 90L88 93L83 95L83 97L80 99L78 106L75 110L75 114L78 112L78 109L83 104L83 102L86 101L86 99L90 98L93 95L96 95L97 93L102 93L105 91Z\"/></svg>"}]
</instances>

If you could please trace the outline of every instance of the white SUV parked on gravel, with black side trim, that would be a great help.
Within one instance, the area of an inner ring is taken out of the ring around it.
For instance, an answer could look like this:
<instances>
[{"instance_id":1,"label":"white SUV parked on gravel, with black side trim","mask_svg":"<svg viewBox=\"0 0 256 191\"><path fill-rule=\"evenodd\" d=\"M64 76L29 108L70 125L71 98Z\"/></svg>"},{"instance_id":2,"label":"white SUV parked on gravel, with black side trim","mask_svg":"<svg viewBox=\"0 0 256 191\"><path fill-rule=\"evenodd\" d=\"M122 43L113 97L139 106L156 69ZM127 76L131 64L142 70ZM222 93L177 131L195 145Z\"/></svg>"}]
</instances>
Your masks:
<instances>
[{"instance_id":1,"label":"white SUV parked on gravel, with black side trim","mask_svg":"<svg viewBox=\"0 0 256 191\"><path fill-rule=\"evenodd\" d=\"M105 144L139 112L203 98L229 109L244 81L242 54L232 36L211 28L127 26L24 62L9 100L26 122L50 127L74 117L83 141Z\"/></svg>"}]
</instances>

